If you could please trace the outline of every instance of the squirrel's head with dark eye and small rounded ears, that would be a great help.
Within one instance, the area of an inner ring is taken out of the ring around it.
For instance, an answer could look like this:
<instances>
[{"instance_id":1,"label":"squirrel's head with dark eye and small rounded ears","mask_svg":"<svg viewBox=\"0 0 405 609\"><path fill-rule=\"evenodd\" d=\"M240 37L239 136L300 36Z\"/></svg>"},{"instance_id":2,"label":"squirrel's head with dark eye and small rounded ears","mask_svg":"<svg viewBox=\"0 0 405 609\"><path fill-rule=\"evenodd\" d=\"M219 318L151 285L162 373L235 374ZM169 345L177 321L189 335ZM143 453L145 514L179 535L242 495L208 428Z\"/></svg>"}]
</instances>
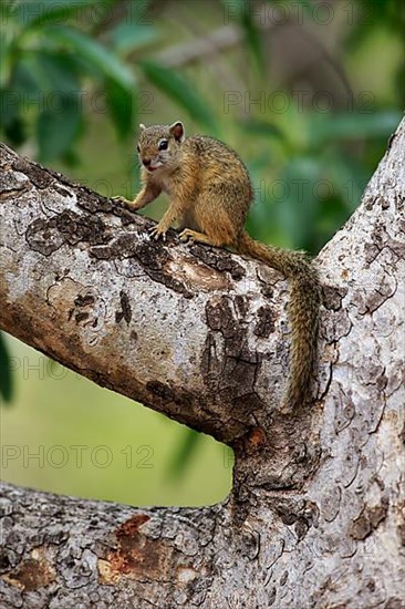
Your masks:
<instances>
[{"instance_id":1,"label":"squirrel's head with dark eye and small rounded ears","mask_svg":"<svg viewBox=\"0 0 405 609\"><path fill-rule=\"evenodd\" d=\"M174 167L179 158L181 143L185 138L183 123L173 125L139 125L141 134L137 144L139 161L148 172Z\"/></svg>"}]
</instances>

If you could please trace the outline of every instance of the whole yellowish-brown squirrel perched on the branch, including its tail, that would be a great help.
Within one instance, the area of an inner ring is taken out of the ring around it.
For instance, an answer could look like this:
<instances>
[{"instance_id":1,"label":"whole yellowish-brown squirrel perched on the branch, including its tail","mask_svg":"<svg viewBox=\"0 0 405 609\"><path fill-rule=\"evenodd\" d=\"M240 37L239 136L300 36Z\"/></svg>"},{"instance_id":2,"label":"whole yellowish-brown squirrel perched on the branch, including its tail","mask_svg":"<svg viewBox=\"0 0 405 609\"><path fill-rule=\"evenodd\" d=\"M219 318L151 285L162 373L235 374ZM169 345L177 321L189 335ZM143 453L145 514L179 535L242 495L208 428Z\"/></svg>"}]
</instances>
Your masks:
<instances>
[{"instance_id":1,"label":"whole yellowish-brown squirrel perched on the branch, including its tail","mask_svg":"<svg viewBox=\"0 0 405 609\"><path fill-rule=\"evenodd\" d=\"M309 400L315 362L321 289L318 273L302 251L253 240L243 229L253 189L238 154L212 137L185 136L181 122L173 125L141 124L137 152L143 187L133 202L114 197L138 210L167 193L170 205L150 229L155 239L166 238L177 221L183 241L230 247L261 260L290 281L290 372L283 406L298 409Z\"/></svg>"}]
</instances>

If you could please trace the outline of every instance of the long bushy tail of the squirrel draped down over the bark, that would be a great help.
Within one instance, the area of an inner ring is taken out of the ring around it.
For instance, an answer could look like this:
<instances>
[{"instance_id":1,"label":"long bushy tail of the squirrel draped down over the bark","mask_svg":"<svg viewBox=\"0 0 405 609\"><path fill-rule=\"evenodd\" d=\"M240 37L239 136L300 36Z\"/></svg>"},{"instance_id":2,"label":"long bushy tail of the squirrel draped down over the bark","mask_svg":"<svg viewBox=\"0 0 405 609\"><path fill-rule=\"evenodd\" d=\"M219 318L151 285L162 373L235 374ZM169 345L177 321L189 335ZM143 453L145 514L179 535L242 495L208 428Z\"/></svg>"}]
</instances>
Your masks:
<instances>
[{"instance_id":1,"label":"long bushy tail of the squirrel draped down over the bark","mask_svg":"<svg viewBox=\"0 0 405 609\"><path fill-rule=\"evenodd\" d=\"M289 409L300 407L309 399L316 358L321 302L316 270L303 252L266 246L255 241L247 233L239 237L238 251L266 262L284 275L290 282L290 373L284 405Z\"/></svg>"}]
</instances>

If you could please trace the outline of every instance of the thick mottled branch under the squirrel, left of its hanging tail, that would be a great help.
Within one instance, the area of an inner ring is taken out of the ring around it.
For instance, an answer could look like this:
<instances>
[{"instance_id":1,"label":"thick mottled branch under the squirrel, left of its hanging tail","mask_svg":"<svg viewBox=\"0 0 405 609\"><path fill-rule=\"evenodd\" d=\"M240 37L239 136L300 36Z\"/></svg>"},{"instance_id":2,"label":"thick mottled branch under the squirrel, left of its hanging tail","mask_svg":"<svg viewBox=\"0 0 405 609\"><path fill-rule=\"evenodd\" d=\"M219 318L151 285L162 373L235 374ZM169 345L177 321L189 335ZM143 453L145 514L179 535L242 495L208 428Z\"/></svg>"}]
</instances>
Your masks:
<instances>
[{"instance_id":1,"label":"thick mottled branch under the squirrel, left of its hanging tail","mask_svg":"<svg viewBox=\"0 0 405 609\"><path fill-rule=\"evenodd\" d=\"M269 426L288 372L287 285L0 148L0 327L90 378L235 444Z\"/></svg>"}]
</instances>

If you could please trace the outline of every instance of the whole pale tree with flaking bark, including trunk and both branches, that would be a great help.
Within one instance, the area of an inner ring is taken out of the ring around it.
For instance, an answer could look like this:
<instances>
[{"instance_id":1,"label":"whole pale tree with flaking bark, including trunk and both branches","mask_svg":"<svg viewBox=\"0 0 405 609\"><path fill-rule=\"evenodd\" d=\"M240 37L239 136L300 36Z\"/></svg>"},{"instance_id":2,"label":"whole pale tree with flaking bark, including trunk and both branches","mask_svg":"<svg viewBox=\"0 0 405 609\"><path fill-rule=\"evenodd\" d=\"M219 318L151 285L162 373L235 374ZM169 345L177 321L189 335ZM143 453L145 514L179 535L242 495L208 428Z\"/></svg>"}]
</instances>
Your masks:
<instances>
[{"instance_id":1,"label":"whole pale tree with flaking bark, including trunk and both branches","mask_svg":"<svg viewBox=\"0 0 405 609\"><path fill-rule=\"evenodd\" d=\"M233 447L201 509L15 488L0 498L1 607L405 607L405 123L318 257L311 409L281 412L287 282L0 147L0 326L96 383Z\"/></svg>"}]
</instances>

